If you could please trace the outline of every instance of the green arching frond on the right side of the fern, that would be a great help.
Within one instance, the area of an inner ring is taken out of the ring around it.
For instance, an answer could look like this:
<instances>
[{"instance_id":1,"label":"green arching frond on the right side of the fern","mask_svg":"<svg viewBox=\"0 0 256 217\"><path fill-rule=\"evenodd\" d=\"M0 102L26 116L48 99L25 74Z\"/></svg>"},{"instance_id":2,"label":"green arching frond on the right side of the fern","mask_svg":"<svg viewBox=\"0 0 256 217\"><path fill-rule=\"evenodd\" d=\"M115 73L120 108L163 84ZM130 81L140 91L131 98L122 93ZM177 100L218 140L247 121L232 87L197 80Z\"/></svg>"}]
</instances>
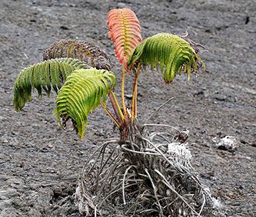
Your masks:
<instances>
[{"instance_id":1,"label":"green arching frond on the right side of the fern","mask_svg":"<svg viewBox=\"0 0 256 217\"><path fill-rule=\"evenodd\" d=\"M138 63L157 69L160 65L166 83L174 81L175 75L182 71L188 72L190 79L192 71L196 72L198 67L204 66L188 41L169 33L153 35L138 44L128 60L128 67Z\"/></svg>"}]
</instances>

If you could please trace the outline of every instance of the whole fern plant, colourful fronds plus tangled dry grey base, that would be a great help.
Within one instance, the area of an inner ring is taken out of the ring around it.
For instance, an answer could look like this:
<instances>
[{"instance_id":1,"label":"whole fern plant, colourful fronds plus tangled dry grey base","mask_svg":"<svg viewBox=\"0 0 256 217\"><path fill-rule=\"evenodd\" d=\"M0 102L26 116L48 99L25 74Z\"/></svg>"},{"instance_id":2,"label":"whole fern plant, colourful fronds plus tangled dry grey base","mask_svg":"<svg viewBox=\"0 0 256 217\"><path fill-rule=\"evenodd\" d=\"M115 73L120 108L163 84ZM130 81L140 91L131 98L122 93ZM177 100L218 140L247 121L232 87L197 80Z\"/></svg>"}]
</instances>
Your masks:
<instances>
[{"instance_id":1,"label":"whole fern plant, colourful fronds plus tangled dry grey base","mask_svg":"<svg viewBox=\"0 0 256 217\"><path fill-rule=\"evenodd\" d=\"M126 203L125 195L128 195L131 200L135 198L136 207L143 207L145 212L158 210L161 216L178 216L182 208L188 214L186 216L201 215L205 202L200 204L200 201L204 201L208 193L190 171L189 153L183 151L184 156L177 157L177 152L170 148L172 143L156 145L153 140L159 135L148 136L147 125L141 125L137 120L140 71L148 66L156 68L167 84L175 80L176 74L188 73L189 79L192 72L204 67L198 56L198 44L186 35L171 33L160 33L143 41L138 18L128 8L108 12L107 25L116 57L122 65L121 104L115 95L115 73L111 72L108 54L86 41L61 40L45 50L42 63L23 69L18 75L14 87L15 110L22 110L25 103L32 100L33 90L38 91L38 97L42 96L43 90L49 97L53 89L57 93L55 113L62 127L71 120L78 135L83 137L88 114L101 106L120 130L118 140L111 140L99 148L101 151L95 160L97 163L101 159L98 172L88 176L95 164L89 167L87 175L83 171L78 185L80 212L89 215L89 208L96 209L114 195L121 195ZM125 76L129 73L135 74L131 107L125 104ZM107 97L112 110L107 105ZM178 131L172 140L181 139L184 143L188 134L183 134ZM164 140L165 143L168 141ZM112 143L118 146L114 146L105 161L105 148ZM106 167L108 164L111 164L110 169ZM93 179L86 180L86 177ZM173 196L170 196L171 192ZM186 198L191 194L198 197L199 202Z\"/></svg>"}]
</instances>

